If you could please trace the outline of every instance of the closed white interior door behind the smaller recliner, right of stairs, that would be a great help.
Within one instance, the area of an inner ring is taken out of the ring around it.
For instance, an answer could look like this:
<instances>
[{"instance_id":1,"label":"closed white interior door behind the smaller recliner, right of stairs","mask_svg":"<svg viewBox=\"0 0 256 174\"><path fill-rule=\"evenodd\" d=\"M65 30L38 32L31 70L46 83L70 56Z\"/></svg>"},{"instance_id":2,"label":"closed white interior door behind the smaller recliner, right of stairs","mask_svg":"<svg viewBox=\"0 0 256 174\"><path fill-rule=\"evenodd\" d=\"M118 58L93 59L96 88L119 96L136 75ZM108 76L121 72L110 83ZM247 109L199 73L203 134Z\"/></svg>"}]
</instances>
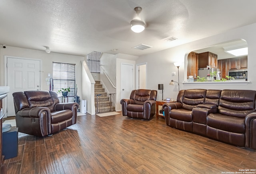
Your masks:
<instances>
[{"instance_id":1,"label":"closed white interior door behind the smaller recliner, right of stairs","mask_svg":"<svg viewBox=\"0 0 256 174\"><path fill-rule=\"evenodd\" d=\"M134 82L134 67L129 64L121 64L121 98L129 99Z\"/></svg>"}]
</instances>

